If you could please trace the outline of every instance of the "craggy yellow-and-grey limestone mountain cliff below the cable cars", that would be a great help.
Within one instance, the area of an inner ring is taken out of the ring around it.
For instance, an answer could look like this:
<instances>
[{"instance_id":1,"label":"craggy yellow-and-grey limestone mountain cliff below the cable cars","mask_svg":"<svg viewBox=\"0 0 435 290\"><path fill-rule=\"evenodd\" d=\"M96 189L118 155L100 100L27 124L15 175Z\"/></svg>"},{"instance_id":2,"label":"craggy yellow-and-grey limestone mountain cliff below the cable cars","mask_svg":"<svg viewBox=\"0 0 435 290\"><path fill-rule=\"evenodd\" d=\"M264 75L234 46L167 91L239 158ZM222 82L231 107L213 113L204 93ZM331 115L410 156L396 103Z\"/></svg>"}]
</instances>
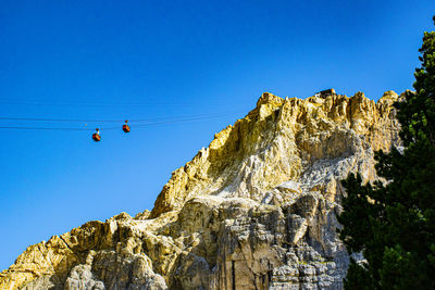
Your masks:
<instances>
[{"instance_id":1,"label":"craggy yellow-and-grey limestone mountain cliff below the cable cars","mask_svg":"<svg viewBox=\"0 0 435 290\"><path fill-rule=\"evenodd\" d=\"M173 173L152 212L30 245L0 289L341 289L338 180L376 178L373 151L399 146L398 98L263 93Z\"/></svg>"}]
</instances>

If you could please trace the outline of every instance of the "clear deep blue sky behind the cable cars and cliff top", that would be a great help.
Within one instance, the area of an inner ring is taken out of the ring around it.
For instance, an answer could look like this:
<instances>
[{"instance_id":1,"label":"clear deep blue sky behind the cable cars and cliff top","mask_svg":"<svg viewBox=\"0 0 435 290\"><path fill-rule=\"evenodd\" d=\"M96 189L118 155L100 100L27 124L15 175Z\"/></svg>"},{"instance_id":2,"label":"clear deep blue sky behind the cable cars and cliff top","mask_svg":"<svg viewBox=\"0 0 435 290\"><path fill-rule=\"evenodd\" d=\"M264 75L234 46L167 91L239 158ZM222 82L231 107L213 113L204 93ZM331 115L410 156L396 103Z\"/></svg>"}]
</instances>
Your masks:
<instances>
[{"instance_id":1,"label":"clear deep blue sky behind the cable cars and cliff top","mask_svg":"<svg viewBox=\"0 0 435 290\"><path fill-rule=\"evenodd\" d=\"M433 0L1 1L0 117L238 115L102 131L100 143L0 129L0 269L87 220L152 209L171 173L263 91L411 89L434 12Z\"/></svg>"}]
</instances>

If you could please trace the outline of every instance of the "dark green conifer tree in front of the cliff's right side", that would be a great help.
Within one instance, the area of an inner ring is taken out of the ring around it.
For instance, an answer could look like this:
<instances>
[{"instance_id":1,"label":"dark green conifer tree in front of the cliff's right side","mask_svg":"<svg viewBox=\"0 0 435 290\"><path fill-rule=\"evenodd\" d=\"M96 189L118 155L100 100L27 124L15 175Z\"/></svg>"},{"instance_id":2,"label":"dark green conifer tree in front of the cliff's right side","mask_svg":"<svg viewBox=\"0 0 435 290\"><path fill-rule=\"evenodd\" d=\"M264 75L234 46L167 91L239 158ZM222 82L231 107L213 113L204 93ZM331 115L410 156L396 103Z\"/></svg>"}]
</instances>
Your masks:
<instances>
[{"instance_id":1,"label":"dark green conifer tree in front of the cliff's right side","mask_svg":"<svg viewBox=\"0 0 435 290\"><path fill-rule=\"evenodd\" d=\"M435 23L435 16L434 16ZM362 185L359 175L347 190L340 239L351 260L346 289L435 289L435 33L424 33L415 70L415 92L397 102L403 150L375 153L377 175L387 182Z\"/></svg>"}]
</instances>

